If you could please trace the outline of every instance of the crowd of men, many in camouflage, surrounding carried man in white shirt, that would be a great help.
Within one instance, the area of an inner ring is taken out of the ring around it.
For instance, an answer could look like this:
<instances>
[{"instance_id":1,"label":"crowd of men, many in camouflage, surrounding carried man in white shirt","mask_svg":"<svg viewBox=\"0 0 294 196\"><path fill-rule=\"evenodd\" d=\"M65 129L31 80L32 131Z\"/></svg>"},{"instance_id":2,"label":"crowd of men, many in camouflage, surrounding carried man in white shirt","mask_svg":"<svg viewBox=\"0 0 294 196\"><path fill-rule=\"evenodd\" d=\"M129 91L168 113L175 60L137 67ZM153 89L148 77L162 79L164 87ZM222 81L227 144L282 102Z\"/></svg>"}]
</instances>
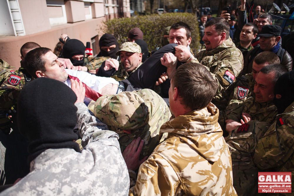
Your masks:
<instances>
[{"instance_id":1,"label":"crowd of men, many in camouflage, surrounding carried man in white shirt","mask_svg":"<svg viewBox=\"0 0 294 196\"><path fill-rule=\"evenodd\" d=\"M66 34L59 56L24 43L19 70L0 61L1 141L18 147L0 148L0 195L255 195L258 171L293 177L294 71L269 16L238 44L201 18L196 55L181 21L151 56L138 28L95 57Z\"/></svg>"}]
</instances>

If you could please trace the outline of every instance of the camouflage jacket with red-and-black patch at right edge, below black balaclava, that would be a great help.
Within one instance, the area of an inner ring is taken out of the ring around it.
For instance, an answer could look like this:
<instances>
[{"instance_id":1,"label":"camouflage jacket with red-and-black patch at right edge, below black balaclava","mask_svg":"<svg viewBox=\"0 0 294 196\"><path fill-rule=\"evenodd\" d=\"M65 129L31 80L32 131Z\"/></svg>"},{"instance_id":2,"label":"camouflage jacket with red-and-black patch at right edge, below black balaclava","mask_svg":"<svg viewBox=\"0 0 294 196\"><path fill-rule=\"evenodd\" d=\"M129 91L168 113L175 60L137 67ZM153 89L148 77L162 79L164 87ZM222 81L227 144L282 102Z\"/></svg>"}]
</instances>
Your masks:
<instances>
[{"instance_id":1,"label":"camouflage jacket with red-and-black patch at right edge, below black balaclava","mask_svg":"<svg viewBox=\"0 0 294 196\"><path fill-rule=\"evenodd\" d=\"M294 102L277 115L277 120L258 140L253 160L260 169L292 172L294 179ZM292 186L292 193L293 190Z\"/></svg>"}]
</instances>

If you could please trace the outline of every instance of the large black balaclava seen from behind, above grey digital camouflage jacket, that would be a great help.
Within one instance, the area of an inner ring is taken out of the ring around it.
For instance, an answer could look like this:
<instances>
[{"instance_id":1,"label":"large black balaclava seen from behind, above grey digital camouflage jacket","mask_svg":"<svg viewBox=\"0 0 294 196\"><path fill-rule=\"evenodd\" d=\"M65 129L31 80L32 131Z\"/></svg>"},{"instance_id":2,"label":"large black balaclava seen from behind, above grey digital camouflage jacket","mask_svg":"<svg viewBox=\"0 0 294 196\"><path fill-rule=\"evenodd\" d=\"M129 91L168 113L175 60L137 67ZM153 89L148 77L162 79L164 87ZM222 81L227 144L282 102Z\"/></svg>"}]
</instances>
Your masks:
<instances>
[{"instance_id":1,"label":"large black balaclava seen from behind, above grey digital camouflage jacket","mask_svg":"<svg viewBox=\"0 0 294 196\"><path fill-rule=\"evenodd\" d=\"M76 95L64 83L38 78L20 92L17 103L19 131L29 139L29 162L50 148L80 152L74 133L77 123Z\"/></svg>"}]
</instances>

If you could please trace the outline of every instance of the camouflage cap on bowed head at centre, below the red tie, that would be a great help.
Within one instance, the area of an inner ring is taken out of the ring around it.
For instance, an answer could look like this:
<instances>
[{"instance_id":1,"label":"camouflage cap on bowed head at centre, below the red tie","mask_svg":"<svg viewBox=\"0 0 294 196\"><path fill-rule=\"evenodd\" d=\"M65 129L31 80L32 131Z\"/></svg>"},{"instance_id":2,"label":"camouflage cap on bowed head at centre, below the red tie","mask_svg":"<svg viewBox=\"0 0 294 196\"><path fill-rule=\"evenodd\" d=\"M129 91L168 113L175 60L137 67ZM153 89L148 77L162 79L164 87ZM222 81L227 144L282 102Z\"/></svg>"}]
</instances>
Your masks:
<instances>
[{"instance_id":1,"label":"camouflage cap on bowed head at centre, below the red tie","mask_svg":"<svg viewBox=\"0 0 294 196\"><path fill-rule=\"evenodd\" d=\"M99 97L94 115L108 126L125 130L141 128L149 121L148 106L136 91Z\"/></svg>"}]
</instances>

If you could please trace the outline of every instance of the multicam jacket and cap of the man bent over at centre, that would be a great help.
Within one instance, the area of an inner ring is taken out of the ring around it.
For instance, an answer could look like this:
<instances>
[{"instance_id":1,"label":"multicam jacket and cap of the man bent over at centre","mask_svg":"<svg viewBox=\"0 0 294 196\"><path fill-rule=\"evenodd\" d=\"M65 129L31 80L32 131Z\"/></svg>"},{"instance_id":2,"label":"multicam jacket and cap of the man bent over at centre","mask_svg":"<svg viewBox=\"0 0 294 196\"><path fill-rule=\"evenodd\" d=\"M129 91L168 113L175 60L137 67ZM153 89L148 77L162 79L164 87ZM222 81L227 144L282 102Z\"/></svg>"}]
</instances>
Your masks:
<instances>
[{"instance_id":1,"label":"multicam jacket and cap of the man bent over at centre","mask_svg":"<svg viewBox=\"0 0 294 196\"><path fill-rule=\"evenodd\" d=\"M159 137L159 130L171 117L168 105L150 89L122 92L118 95L119 99L113 95L98 98L94 109L95 116L108 125L109 130L118 134L121 152L131 141L141 137L145 144L140 157L151 155L160 140L166 138L167 134ZM118 102L120 103L116 105ZM139 106L132 107L132 103L136 102Z\"/></svg>"}]
</instances>

